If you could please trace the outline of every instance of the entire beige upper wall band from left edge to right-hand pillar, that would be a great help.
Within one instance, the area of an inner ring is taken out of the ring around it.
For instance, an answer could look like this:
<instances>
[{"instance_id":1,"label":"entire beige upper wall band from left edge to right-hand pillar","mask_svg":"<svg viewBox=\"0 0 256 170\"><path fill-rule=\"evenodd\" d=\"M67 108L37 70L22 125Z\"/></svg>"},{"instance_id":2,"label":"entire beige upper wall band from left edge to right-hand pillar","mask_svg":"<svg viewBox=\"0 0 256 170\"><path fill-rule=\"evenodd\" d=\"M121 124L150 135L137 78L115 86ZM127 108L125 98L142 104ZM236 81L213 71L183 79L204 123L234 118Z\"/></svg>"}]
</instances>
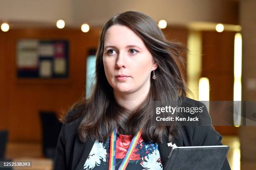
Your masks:
<instances>
[{"instance_id":1,"label":"entire beige upper wall band from left edge to right-hand pillar","mask_svg":"<svg viewBox=\"0 0 256 170\"><path fill-rule=\"evenodd\" d=\"M68 27L79 28L82 23L102 26L113 15L127 10L141 11L156 21L165 19L170 25L238 23L238 2L234 0L2 0L0 21L12 23L10 26L34 23L54 27L56 20L64 19Z\"/></svg>"}]
</instances>

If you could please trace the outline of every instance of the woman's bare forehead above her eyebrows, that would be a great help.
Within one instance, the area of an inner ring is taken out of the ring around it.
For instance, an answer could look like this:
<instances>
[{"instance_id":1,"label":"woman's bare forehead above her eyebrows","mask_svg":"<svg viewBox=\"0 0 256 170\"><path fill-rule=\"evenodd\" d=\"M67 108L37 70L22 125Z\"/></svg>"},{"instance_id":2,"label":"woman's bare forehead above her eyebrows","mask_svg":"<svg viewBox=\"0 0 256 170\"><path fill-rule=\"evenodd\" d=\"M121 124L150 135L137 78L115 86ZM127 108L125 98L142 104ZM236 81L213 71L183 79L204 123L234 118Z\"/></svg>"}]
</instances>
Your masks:
<instances>
[{"instance_id":1,"label":"woman's bare forehead above her eyebrows","mask_svg":"<svg viewBox=\"0 0 256 170\"><path fill-rule=\"evenodd\" d=\"M141 37L133 30L123 25L113 25L108 28L104 37L104 45L141 45L145 46Z\"/></svg>"}]
</instances>

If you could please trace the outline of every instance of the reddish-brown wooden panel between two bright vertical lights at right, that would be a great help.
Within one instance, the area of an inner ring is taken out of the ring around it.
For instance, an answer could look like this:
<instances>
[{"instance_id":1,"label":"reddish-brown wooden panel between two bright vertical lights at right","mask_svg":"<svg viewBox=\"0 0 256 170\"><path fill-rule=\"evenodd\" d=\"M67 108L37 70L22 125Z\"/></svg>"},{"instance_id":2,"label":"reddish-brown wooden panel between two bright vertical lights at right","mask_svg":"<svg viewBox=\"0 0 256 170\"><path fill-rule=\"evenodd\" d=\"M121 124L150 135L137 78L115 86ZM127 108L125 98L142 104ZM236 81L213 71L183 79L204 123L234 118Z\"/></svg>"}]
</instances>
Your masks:
<instances>
[{"instance_id":1,"label":"reddish-brown wooden panel between two bright vertical lights at right","mask_svg":"<svg viewBox=\"0 0 256 170\"><path fill-rule=\"evenodd\" d=\"M235 33L202 32L202 77L209 78L211 101L233 101ZM221 135L238 133L234 126L215 126L215 129Z\"/></svg>"}]
</instances>

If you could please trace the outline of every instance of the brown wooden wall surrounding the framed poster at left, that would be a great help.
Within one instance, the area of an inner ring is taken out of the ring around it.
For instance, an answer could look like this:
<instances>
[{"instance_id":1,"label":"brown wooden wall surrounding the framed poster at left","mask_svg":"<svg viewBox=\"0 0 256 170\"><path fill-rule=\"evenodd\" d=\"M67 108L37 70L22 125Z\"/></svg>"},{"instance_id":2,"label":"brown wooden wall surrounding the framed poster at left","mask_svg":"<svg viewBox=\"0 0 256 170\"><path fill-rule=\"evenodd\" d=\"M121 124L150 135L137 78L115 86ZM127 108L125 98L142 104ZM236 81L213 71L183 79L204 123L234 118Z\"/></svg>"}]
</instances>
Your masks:
<instances>
[{"instance_id":1,"label":"brown wooden wall surrounding the framed poster at left","mask_svg":"<svg viewBox=\"0 0 256 170\"><path fill-rule=\"evenodd\" d=\"M18 29L6 32L4 55L5 97L10 141L41 141L39 110L66 109L82 96L85 88L85 62L90 47L96 47L99 30ZM21 38L69 40L69 78L64 80L18 79L16 77L16 42ZM2 64L2 63L1 63ZM2 77L1 77L2 78ZM2 103L2 102L1 102ZM5 116L6 117L6 116ZM4 125L6 120L1 119ZM5 125L6 127L6 125Z\"/></svg>"}]
</instances>

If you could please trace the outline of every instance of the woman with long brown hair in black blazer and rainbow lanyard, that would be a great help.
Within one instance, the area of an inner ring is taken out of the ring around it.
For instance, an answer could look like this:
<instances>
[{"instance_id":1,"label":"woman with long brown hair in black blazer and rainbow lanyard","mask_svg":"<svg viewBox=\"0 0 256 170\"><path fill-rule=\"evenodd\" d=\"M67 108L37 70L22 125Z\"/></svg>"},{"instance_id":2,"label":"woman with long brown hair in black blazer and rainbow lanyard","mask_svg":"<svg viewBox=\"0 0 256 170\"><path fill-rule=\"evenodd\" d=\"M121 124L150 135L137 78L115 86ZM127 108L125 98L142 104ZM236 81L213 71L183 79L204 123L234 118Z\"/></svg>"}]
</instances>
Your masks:
<instances>
[{"instance_id":1,"label":"woman with long brown hair in black blazer and rainbow lanyard","mask_svg":"<svg viewBox=\"0 0 256 170\"><path fill-rule=\"evenodd\" d=\"M212 125L168 126L157 123L155 102L187 107L176 60L178 43L166 41L148 15L128 11L103 27L97 49L96 77L89 99L77 102L63 119L54 168L58 170L162 170L171 148L222 145ZM204 112L201 118L211 121ZM199 123L200 124L200 123ZM130 148L129 148L130 147ZM222 170L229 170L227 159Z\"/></svg>"}]
</instances>

